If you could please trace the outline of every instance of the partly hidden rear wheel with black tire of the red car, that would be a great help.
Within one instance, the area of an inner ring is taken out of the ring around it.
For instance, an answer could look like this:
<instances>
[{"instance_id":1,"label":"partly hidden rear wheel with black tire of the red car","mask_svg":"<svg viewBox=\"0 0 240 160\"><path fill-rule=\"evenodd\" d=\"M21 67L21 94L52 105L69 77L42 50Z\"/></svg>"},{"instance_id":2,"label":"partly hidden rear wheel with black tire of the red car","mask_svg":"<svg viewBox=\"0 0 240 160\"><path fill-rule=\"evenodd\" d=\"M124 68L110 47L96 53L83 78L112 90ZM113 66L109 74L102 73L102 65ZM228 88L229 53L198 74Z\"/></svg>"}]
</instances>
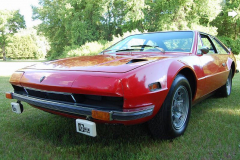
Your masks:
<instances>
[{"instance_id":1,"label":"partly hidden rear wheel with black tire of the red car","mask_svg":"<svg viewBox=\"0 0 240 160\"><path fill-rule=\"evenodd\" d=\"M232 70L229 71L227 82L218 90L220 97L228 97L232 92Z\"/></svg>"}]
</instances>

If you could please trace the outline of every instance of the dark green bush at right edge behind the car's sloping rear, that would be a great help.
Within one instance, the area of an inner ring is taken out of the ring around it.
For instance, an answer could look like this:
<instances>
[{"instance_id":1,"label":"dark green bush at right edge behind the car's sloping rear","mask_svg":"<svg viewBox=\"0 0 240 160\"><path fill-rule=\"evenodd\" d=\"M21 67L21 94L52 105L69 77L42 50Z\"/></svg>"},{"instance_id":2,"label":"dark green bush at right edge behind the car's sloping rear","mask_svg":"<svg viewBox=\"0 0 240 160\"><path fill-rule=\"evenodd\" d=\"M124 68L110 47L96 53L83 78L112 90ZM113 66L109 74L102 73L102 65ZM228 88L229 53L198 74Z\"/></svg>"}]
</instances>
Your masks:
<instances>
[{"instance_id":1,"label":"dark green bush at right edge behind the car's sloping rear","mask_svg":"<svg viewBox=\"0 0 240 160\"><path fill-rule=\"evenodd\" d=\"M233 40L229 37L219 36L218 39L228 48L231 48L233 54L238 55L240 53L240 38Z\"/></svg>"}]
</instances>

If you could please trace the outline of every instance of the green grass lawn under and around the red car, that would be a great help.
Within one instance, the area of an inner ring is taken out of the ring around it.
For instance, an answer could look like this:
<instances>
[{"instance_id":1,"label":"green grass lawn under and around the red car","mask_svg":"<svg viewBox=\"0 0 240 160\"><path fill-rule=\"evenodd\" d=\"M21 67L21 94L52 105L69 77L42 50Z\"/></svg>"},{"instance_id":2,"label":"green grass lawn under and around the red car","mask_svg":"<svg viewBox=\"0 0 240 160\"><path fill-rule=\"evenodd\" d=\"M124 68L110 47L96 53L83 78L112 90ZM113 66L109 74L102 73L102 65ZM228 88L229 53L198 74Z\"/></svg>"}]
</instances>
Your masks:
<instances>
[{"instance_id":1,"label":"green grass lawn under and around the red car","mask_svg":"<svg viewBox=\"0 0 240 160\"><path fill-rule=\"evenodd\" d=\"M75 120L49 114L26 103L11 111L0 77L0 159L240 159L240 74L228 98L211 97L192 109L185 134L154 140L146 125L97 125L98 136L76 133Z\"/></svg>"}]
</instances>

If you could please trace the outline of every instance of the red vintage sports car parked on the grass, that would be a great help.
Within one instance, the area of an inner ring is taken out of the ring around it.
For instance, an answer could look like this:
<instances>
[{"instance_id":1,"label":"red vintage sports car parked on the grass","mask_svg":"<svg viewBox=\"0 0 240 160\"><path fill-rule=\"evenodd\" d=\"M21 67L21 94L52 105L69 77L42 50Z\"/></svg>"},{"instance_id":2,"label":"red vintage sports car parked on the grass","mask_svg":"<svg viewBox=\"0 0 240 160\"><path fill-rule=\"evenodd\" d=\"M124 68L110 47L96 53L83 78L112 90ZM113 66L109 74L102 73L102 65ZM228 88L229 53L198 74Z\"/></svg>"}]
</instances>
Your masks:
<instances>
[{"instance_id":1,"label":"red vintage sports car parked on the grass","mask_svg":"<svg viewBox=\"0 0 240 160\"><path fill-rule=\"evenodd\" d=\"M198 31L129 36L100 55L66 58L16 71L12 110L21 101L76 119L77 132L96 136L96 123L147 122L154 137L187 128L191 107L215 91L231 93L236 59L216 37Z\"/></svg>"}]
</instances>

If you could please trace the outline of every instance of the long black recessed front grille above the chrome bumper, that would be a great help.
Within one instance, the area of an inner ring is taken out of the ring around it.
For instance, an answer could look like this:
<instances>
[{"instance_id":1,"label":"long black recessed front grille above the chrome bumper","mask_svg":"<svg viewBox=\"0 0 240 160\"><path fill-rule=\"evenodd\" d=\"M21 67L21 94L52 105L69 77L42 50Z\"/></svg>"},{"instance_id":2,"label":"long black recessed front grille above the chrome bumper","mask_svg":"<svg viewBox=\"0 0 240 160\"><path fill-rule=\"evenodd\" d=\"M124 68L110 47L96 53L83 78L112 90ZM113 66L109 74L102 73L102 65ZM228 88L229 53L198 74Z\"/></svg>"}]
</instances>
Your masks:
<instances>
[{"instance_id":1,"label":"long black recessed front grille above the chrome bumper","mask_svg":"<svg viewBox=\"0 0 240 160\"><path fill-rule=\"evenodd\" d=\"M45 100L59 101L62 103L73 103L75 105L87 105L94 106L96 108L111 108L111 109L122 109L123 108L123 97L110 97L110 96L97 96L97 95L86 95L86 94L68 94L35 90L31 88L23 88L13 85L14 92L21 95L27 95L35 98L41 98Z\"/></svg>"}]
</instances>

